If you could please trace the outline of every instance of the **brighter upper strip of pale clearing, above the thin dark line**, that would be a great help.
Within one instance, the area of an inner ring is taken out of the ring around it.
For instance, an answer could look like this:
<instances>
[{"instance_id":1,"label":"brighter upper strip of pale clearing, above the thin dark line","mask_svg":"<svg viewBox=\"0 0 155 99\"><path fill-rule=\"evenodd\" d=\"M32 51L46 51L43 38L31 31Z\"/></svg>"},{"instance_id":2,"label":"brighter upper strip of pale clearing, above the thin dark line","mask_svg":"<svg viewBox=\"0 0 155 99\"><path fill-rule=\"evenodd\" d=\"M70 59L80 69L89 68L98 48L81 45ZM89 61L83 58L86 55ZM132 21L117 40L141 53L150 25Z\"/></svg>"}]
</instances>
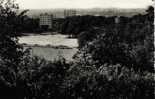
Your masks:
<instances>
[{"instance_id":1,"label":"brighter upper strip of pale clearing, above the thin dark line","mask_svg":"<svg viewBox=\"0 0 155 99\"><path fill-rule=\"evenodd\" d=\"M19 37L20 44L28 44L28 45L51 45L51 46L68 46L68 47L78 47L77 39L68 38L68 35L26 35Z\"/></svg>"}]
</instances>

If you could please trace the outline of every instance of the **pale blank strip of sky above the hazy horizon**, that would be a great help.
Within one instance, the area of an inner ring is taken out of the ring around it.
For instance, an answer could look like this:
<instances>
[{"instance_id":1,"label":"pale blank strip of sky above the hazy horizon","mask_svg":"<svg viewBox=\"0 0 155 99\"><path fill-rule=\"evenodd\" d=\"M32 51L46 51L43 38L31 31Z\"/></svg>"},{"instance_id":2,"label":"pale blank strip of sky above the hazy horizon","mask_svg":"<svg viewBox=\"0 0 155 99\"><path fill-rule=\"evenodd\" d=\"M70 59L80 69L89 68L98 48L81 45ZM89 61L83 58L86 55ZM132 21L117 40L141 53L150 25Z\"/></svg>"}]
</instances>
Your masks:
<instances>
[{"instance_id":1,"label":"pale blank strip of sky above the hazy horizon","mask_svg":"<svg viewBox=\"0 0 155 99\"><path fill-rule=\"evenodd\" d=\"M146 8L152 0L16 0L21 9Z\"/></svg>"}]
</instances>

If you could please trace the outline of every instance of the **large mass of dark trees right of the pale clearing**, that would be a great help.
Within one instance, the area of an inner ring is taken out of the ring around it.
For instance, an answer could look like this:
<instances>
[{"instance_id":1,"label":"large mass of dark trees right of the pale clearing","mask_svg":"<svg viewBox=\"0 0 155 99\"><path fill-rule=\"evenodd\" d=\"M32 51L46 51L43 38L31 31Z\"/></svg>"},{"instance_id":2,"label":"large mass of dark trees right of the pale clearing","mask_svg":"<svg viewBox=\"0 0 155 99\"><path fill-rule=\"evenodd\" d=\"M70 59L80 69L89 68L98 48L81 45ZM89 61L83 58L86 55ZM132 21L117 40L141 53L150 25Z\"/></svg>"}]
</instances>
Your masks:
<instances>
[{"instance_id":1,"label":"large mass of dark trees right of the pale clearing","mask_svg":"<svg viewBox=\"0 0 155 99\"><path fill-rule=\"evenodd\" d=\"M146 15L120 17L115 24L83 31L78 36L82 50L79 53L85 54L84 57L91 54L97 65L120 63L136 70L153 71L153 11L150 7Z\"/></svg>"}]
</instances>

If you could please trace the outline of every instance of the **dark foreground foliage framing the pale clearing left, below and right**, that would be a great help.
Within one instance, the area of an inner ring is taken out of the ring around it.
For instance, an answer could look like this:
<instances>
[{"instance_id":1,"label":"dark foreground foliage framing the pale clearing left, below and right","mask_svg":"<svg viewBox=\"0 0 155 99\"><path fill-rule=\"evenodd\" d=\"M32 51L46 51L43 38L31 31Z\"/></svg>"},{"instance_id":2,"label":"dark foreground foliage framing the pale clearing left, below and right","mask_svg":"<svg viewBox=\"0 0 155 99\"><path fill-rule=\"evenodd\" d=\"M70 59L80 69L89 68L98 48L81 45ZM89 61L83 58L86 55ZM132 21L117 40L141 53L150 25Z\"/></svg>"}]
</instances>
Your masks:
<instances>
[{"instance_id":1,"label":"dark foreground foliage framing the pale clearing left, below and right","mask_svg":"<svg viewBox=\"0 0 155 99\"><path fill-rule=\"evenodd\" d=\"M153 7L81 31L79 52L69 63L23 50L17 24L24 14L17 9L10 0L0 3L1 99L154 99Z\"/></svg>"}]
</instances>

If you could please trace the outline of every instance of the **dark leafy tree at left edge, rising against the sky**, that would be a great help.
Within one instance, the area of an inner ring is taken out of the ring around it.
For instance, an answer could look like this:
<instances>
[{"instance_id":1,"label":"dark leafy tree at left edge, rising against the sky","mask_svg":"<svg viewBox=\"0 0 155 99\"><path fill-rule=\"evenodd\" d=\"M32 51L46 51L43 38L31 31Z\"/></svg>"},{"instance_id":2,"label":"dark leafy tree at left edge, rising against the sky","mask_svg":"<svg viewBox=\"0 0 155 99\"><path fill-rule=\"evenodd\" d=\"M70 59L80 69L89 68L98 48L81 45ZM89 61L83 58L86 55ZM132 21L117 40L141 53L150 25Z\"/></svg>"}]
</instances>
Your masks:
<instances>
[{"instance_id":1,"label":"dark leafy tree at left edge, rising against the sky","mask_svg":"<svg viewBox=\"0 0 155 99\"><path fill-rule=\"evenodd\" d=\"M18 5L13 0L2 0L0 3L0 57L12 65L17 65L22 56L22 47L17 39L17 26L20 24L17 10Z\"/></svg>"}]
</instances>

